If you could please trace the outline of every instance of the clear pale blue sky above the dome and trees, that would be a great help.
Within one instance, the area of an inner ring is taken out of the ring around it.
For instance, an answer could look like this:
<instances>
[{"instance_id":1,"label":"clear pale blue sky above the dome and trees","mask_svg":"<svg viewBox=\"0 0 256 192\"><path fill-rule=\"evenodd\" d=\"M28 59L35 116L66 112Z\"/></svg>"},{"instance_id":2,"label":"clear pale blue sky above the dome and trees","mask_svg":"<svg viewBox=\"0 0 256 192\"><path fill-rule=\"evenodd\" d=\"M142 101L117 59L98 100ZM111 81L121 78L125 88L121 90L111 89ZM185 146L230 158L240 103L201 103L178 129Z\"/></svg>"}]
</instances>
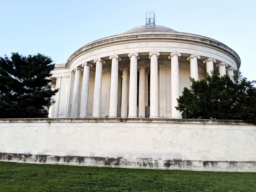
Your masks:
<instances>
[{"instance_id":1,"label":"clear pale blue sky above the dome and trees","mask_svg":"<svg viewBox=\"0 0 256 192\"><path fill-rule=\"evenodd\" d=\"M155 11L156 25L220 41L241 58L240 70L256 80L256 1L58 1L0 0L0 56L43 53L56 64L91 41L145 24Z\"/></svg>"}]
</instances>

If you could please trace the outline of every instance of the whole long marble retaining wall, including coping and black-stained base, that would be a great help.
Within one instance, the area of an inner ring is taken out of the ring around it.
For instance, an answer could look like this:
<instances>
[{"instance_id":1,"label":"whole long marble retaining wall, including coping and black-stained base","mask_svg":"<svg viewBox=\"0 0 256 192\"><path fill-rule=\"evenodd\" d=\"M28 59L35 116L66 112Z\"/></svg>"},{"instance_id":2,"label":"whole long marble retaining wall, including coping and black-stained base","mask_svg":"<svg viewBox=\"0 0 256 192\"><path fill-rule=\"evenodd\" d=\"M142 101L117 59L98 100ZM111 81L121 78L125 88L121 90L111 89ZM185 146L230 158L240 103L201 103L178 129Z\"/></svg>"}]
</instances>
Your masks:
<instances>
[{"instance_id":1,"label":"whole long marble retaining wall, including coping and black-stained base","mask_svg":"<svg viewBox=\"0 0 256 192\"><path fill-rule=\"evenodd\" d=\"M0 161L256 172L256 126L197 119L1 119Z\"/></svg>"}]
</instances>

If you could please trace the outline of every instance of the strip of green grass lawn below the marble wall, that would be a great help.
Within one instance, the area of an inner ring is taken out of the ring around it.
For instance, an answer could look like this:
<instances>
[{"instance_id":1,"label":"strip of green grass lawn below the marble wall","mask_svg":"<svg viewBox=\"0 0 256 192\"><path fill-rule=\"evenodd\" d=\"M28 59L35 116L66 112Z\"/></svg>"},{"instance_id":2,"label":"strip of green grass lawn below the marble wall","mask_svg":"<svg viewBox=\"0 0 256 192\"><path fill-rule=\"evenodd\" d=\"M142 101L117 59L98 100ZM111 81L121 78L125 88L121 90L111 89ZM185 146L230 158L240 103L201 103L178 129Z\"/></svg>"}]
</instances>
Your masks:
<instances>
[{"instance_id":1,"label":"strip of green grass lawn below the marble wall","mask_svg":"<svg viewBox=\"0 0 256 192\"><path fill-rule=\"evenodd\" d=\"M0 191L256 191L256 173L0 162Z\"/></svg>"}]
</instances>

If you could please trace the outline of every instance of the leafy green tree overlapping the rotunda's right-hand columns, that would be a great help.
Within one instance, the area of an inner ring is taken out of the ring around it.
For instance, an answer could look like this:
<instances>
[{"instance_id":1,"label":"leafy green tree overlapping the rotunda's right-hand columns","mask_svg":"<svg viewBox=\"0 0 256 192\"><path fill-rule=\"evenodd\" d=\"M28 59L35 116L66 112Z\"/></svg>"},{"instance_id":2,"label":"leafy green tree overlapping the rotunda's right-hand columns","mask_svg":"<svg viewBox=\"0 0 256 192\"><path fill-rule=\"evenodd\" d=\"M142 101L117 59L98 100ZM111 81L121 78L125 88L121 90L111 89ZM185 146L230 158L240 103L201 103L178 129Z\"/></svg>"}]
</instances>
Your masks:
<instances>
[{"instance_id":1,"label":"leafy green tree overlapping the rotunda's right-hand columns","mask_svg":"<svg viewBox=\"0 0 256 192\"><path fill-rule=\"evenodd\" d=\"M255 81L247 81L236 71L233 81L215 70L205 79L190 79L191 88L184 88L177 110L185 119L230 119L256 123Z\"/></svg>"}]
</instances>

